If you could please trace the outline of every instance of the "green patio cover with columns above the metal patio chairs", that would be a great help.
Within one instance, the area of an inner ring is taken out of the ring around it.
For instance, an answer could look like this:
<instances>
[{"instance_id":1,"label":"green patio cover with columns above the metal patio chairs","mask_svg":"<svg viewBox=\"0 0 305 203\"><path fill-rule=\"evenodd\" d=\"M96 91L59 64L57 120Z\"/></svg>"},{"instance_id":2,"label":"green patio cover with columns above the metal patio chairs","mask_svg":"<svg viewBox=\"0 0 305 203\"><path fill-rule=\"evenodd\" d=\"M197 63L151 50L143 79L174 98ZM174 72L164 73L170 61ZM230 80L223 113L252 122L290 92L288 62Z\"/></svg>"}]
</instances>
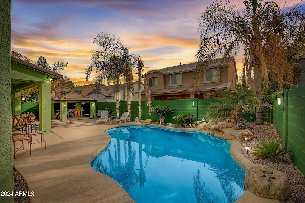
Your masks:
<instances>
[{"instance_id":1,"label":"green patio cover with columns above the metal patio chairs","mask_svg":"<svg viewBox=\"0 0 305 203\"><path fill-rule=\"evenodd\" d=\"M21 90L39 86L40 131L51 131L51 80L63 75L18 58L11 58L13 114L21 114Z\"/></svg>"}]
</instances>

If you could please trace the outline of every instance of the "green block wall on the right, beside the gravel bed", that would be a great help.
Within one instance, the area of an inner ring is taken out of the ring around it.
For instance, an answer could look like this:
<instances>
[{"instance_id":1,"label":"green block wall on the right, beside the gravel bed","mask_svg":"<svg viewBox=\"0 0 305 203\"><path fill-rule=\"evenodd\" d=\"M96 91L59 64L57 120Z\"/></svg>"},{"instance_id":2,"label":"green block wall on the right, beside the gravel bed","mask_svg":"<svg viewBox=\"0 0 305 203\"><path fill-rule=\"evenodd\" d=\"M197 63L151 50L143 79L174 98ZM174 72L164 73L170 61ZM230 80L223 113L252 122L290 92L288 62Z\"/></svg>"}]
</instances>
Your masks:
<instances>
[{"instance_id":1,"label":"green block wall on the right, beside the gravel bed","mask_svg":"<svg viewBox=\"0 0 305 203\"><path fill-rule=\"evenodd\" d=\"M305 175L305 86L284 90L285 111L282 110L282 94L278 94L281 104L275 100L272 122L281 137L284 146L293 154L291 159L301 173Z\"/></svg>"}]
</instances>

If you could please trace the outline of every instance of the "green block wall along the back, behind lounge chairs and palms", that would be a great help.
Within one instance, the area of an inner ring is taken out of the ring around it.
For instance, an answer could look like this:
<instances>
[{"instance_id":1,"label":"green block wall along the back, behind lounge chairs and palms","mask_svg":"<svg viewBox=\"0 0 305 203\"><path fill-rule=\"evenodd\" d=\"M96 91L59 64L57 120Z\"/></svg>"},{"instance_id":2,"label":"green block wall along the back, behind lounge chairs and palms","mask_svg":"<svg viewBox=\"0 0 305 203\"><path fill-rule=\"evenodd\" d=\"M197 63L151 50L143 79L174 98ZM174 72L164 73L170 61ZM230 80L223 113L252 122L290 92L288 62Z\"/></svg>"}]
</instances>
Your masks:
<instances>
[{"instance_id":1,"label":"green block wall along the back, behind lounge chairs and palms","mask_svg":"<svg viewBox=\"0 0 305 203\"><path fill-rule=\"evenodd\" d=\"M206 109L208 107L208 103L215 101L215 99L194 99L195 107L193 107L193 99L189 100L152 100L152 106L156 105L168 105L170 107L174 107L174 112L167 114L165 116L165 122L178 124L177 121L173 120L173 117L178 114L195 114L196 119L194 121L201 121L202 117L206 117ZM116 102L98 102L97 110L105 109L110 107L112 109L116 109ZM127 111L127 101L120 102L120 115L123 112ZM270 112L264 113L265 122L270 122ZM131 120L135 120L138 117L138 101L131 101ZM155 114L151 114L149 116L148 107L146 106L146 101L142 101L142 119L152 119L152 121L158 122L159 116ZM245 120L250 121L250 115L245 115ZM255 114L253 114L253 118L251 121L255 121Z\"/></svg>"}]
</instances>

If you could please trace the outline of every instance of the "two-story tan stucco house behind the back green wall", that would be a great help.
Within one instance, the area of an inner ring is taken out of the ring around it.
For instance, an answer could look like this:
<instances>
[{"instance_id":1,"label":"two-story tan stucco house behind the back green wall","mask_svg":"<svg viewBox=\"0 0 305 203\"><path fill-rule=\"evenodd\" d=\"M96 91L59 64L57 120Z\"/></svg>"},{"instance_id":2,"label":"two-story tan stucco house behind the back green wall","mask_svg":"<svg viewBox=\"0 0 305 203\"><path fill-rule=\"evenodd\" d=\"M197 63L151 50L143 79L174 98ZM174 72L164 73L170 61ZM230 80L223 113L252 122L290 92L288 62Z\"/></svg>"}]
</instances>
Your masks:
<instances>
[{"instance_id":1,"label":"two-story tan stucco house behind the back green wall","mask_svg":"<svg viewBox=\"0 0 305 203\"><path fill-rule=\"evenodd\" d=\"M192 94L194 71L197 62L178 65L144 74L149 83L152 100L203 98L203 93L215 90L234 89L238 76L234 57L209 61L209 69L199 80L200 94Z\"/></svg>"}]
</instances>

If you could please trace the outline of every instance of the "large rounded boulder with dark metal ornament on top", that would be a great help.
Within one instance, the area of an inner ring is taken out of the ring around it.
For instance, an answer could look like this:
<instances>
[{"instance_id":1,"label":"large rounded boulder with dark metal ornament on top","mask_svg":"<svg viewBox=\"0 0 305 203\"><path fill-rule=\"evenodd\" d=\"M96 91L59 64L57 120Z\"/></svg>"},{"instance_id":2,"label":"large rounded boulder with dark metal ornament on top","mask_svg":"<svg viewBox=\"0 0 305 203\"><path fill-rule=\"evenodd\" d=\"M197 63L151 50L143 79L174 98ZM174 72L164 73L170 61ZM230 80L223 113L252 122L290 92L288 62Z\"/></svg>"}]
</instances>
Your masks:
<instances>
[{"instance_id":1,"label":"large rounded boulder with dark metal ornament on top","mask_svg":"<svg viewBox=\"0 0 305 203\"><path fill-rule=\"evenodd\" d=\"M267 169L267 171L266 171ZM275 200L285 201L291 195L288 178L269 166L253 165L245 177L245 191Z\"/></svg>"}]
</instances>

